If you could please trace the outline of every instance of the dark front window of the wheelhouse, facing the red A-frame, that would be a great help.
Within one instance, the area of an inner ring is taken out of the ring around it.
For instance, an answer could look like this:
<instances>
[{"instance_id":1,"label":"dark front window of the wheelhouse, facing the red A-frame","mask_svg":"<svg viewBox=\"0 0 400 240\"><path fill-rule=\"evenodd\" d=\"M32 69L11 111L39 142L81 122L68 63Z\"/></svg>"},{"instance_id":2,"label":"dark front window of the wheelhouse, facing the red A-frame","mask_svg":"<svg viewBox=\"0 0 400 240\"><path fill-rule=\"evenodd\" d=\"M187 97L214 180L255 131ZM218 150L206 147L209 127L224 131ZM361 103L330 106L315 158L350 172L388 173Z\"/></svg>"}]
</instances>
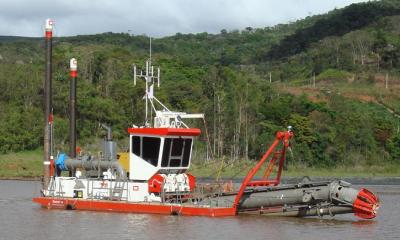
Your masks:
<instances>
[{"instance_id":1,"label":"dark front window of the wheelhouse, facing the red A-frame","mask_svg":"<svg viewBox=\"0 0 400 240\"><path fill-rule=\"evenodd\" d=\"M161 167L187 167L191 149L190 138L165 138Z\"/></svg>"}]
</instances>

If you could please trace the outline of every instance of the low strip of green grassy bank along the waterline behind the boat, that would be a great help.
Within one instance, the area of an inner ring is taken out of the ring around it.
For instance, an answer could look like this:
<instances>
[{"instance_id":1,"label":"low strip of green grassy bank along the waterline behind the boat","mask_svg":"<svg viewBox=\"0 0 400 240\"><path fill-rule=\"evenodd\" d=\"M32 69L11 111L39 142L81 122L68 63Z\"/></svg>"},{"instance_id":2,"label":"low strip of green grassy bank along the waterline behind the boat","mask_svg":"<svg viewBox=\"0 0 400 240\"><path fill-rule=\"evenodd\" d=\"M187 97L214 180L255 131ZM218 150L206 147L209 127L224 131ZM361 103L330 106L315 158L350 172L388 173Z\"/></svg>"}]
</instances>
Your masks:
<instances>
[{"instance_id":1,"label":"low strip of green grassy bank along the waterline behind the boat","mask_svg":"<svg viewBox=\"0 0 400 240\"><path fill-rule=\"evenodd\" d=\"M35 178L42 175L42 151L24 151L0 155L0 178ZM256 162L241 161L235 164L192 164L190 172L198 177L243 177ZM372 166L337 166L312 168L290 165L283 176L301 177L396 177L400 176L399 164Z\"/></svg>"}]
</instances>

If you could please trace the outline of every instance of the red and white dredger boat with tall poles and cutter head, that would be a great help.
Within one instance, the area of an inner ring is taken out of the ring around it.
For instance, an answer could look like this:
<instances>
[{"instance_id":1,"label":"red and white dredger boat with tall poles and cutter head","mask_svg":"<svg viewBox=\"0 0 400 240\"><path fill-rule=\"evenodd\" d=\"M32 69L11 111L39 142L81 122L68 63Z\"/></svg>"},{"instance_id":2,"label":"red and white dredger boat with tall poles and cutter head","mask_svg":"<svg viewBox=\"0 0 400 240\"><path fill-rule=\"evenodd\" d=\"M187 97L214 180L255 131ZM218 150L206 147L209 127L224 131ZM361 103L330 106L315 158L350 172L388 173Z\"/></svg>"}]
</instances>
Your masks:
<instances>
[{"instance_id":1,"label":"red and white dredger boat with tall poles and cutter head","mask_svg":"<svg viewBox=\"0 0 400 240\"><path fill-rule=\"evenodd\" d=\"M191 216L323 216L354 213L364 219L376 216L378 198L367 189L355 189L344 181L281 185L286 151L293 137L291 128L278 132L261 160L238 189L230 184L199 184L188 173L193 142L200 135L183 121L203 114L170 111L154 96L160 70L154 74L151 59L145 71L133 66L134 81L146 83L144 126L127 129L129 150L117 153L111 128L103 152L94 157L76 152L75 102L77 62L71 59L70 154L53 159L51 113L52 22L46 22L44 188L33 198L48 209L176 214ZM157 110L161 106L161 110ZM154 118L148 115L154 114ZM150 120L149 120L150 119ZM262 177L255 175L264 169ZM69 177L62 176L63 171ZM273 176L273 178L271 178Z\"/></svg>"}]
</instances>

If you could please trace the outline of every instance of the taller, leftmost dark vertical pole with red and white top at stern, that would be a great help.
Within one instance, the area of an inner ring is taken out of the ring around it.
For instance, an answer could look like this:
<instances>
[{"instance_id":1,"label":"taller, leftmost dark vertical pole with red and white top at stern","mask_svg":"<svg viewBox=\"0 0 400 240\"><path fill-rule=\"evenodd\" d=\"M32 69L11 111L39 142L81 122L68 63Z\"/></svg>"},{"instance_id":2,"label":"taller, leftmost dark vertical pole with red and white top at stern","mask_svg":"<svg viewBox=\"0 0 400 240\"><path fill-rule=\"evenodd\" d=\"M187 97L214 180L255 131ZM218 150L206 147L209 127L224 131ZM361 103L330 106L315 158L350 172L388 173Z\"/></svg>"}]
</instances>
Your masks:
<instances>
[{"instance_id":1,"label":"taller, leftmost dark vertical pole with red and white top at stern","mask_svg":"<svg viewBox=\"0 0 400 240\"><path fill-rule=\"evenodd\" d=\"M45 25L45 62L46 72L44 79L44 159L43 159L43 187L47 189L50 181L50 165L52 161L51 156L51 129L53 125L53 114L52 114L52 50L53 50L53 21L46 19Z\"/></svg>"}]
</instances>

